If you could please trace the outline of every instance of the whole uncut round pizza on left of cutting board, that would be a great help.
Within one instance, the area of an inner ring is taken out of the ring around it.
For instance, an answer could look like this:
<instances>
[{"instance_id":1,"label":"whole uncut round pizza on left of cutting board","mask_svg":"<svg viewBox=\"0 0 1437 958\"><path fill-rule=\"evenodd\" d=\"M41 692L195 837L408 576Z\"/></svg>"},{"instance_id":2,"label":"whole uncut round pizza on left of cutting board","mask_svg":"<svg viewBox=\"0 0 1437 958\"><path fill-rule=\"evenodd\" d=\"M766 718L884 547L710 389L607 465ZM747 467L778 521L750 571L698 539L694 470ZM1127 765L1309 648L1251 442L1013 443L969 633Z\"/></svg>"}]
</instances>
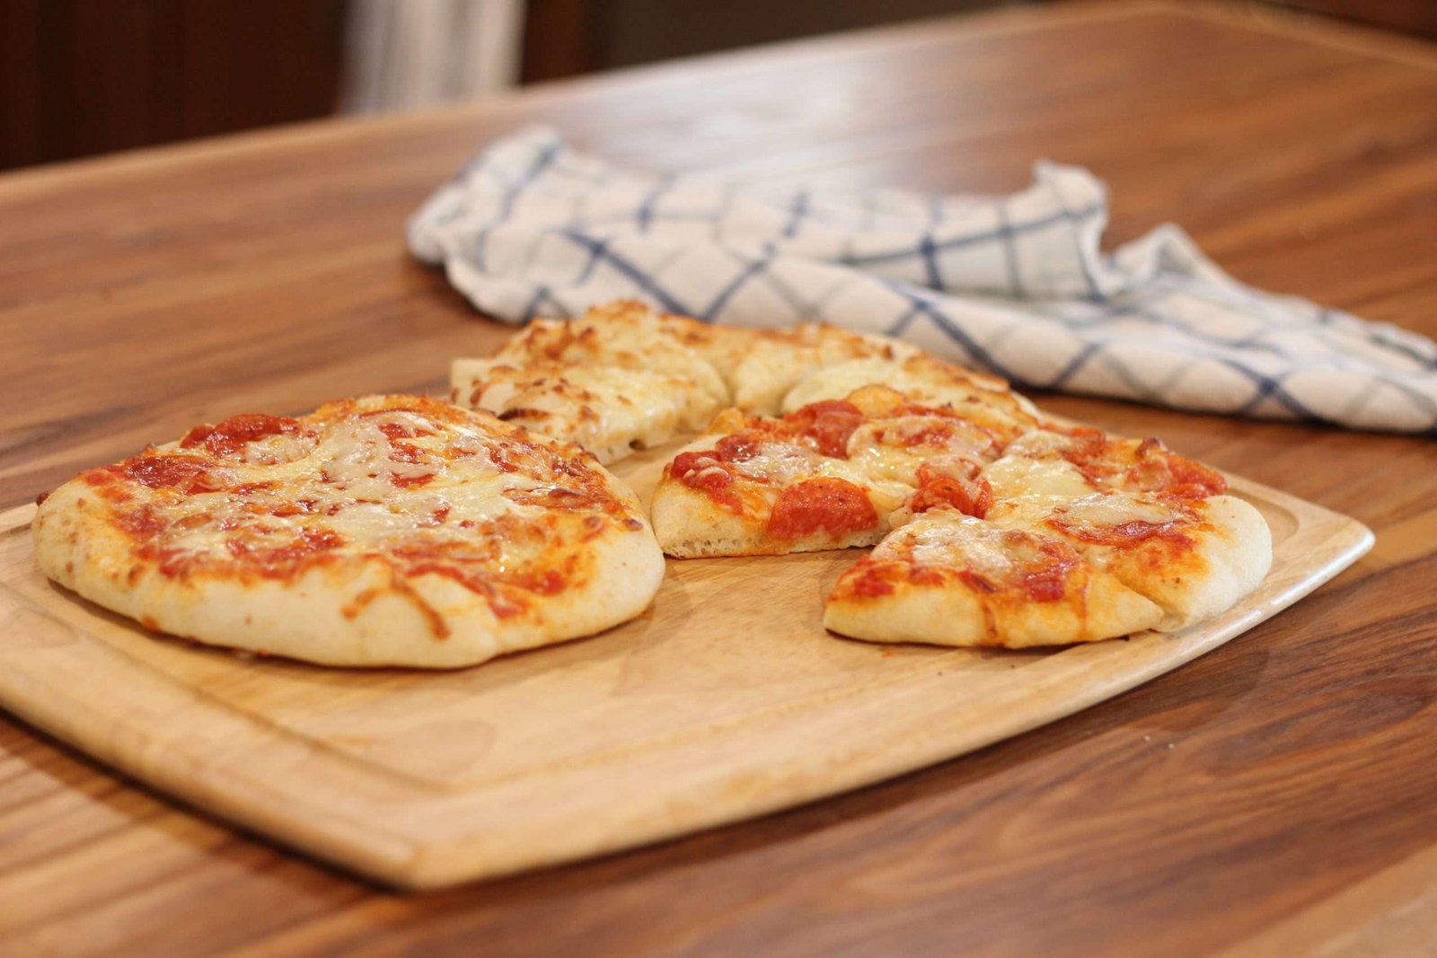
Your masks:
<instances>
[{"instance_id":1,"label":"whole uncut round pizza on left of cutting board","mask_svg":"<svg viewBox=\"0 0 1437 958\"><path fill-rule=\"evenodd\" d=\"M662 554L575 445L417 396L237 415L46 497L40 569L149 629L450 668L639 615Z\"/></svg>"}]
</instances>

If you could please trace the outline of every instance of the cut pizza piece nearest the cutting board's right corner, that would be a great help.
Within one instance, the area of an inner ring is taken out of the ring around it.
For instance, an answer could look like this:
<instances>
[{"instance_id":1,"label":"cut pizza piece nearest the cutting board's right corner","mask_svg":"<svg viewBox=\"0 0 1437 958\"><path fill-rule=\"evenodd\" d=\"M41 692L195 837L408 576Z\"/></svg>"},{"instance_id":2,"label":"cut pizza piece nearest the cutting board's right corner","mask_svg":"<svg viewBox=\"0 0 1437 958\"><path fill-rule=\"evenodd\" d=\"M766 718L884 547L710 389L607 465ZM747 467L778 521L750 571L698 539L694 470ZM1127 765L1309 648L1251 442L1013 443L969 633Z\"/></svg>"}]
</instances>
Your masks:
<instances>
[{"instance_id":1,"label":"cut pizza piece nearest the cutting board's right corner","mask_svg":"<svg viewBox=\"0 0 1437 958\"><path fill-rule=\"evenodd\" d=\"M1155 440L1048 424L986 465L931 457L915 478L895 531L829 596L835 632L1022 648L1174 631L1252 592L1272 559L1221 474Z\"/></svg>"}]
</instances>

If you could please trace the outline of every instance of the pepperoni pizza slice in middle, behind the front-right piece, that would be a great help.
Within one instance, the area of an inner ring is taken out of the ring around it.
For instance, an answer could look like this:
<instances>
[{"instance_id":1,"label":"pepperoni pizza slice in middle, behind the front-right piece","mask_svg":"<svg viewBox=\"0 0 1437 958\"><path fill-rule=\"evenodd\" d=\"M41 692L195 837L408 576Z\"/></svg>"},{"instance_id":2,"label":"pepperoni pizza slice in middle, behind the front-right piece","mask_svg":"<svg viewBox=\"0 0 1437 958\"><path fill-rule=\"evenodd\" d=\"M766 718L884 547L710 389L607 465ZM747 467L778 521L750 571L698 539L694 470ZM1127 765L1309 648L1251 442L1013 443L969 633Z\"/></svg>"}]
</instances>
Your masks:
<instances>
[{"instance_id":1,"label":"pepperoni pizza slice in middle, behind the front-right piece","mask_svg":"<svg viewBox=\"0 0 1437 958\"><path fill-rule=\"evenodd\" d=\"M730 409L665 468L655 534L680 557L783 554L872 544L938 506L981 516L980 473L1019 431L970 412L885 386L780 418Z\"/></svg>"}]
</instances>

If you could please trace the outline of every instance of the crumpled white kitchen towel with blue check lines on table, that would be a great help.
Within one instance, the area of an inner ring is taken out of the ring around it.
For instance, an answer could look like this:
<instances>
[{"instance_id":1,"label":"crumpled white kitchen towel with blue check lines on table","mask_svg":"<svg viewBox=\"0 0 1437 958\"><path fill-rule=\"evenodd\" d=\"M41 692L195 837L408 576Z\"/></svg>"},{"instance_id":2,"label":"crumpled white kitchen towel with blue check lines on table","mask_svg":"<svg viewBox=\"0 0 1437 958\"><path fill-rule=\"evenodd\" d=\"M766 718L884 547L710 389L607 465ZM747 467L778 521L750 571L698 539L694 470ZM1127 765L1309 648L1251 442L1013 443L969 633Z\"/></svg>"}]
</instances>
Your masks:
<instances>
[{"instance_id":1,"label":"crumpled white kitchen towel with blue check lines on table","mask_svg":"<svg viewBox=\"0 0 1437 958\"><path fill-rule=\"evenodd\" d=\"M1437 343L1243 286L1175 225L1099 251L1104 184L1009 197L616 169L553 131L493 142L408 225L491 316L621 297L706 322L902 336L1022 388L1437 435Z\"/></svg>"}]
</instances>

